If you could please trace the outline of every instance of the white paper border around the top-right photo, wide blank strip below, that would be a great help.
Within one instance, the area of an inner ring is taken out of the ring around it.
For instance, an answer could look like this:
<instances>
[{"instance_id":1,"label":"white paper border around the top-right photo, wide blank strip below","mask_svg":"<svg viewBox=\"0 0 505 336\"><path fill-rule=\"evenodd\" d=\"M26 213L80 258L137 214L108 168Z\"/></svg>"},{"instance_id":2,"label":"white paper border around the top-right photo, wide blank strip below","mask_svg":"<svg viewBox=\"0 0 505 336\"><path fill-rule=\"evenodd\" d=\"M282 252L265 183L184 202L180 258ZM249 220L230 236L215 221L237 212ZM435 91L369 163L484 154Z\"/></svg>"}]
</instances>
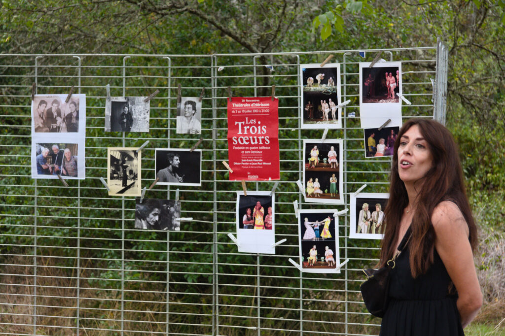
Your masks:
<instances>
[{"instance_id":1,"label":"white paper border around the top-right photo, wide blank strip below","mask_svg":"<svg viewBox=\"0 0 505 336\"><path fill-rule=\"evenodd\" d=\"M391 121L387 124L388 127L401 127L401 99L398 97L398 102L394 103L363 103L363 68L368 68L371 62L360 63L360 121L361 128L379 128L388 119ZM377 62L374 68L389 68L398 67L400 74L400 83L398 92L402 94L401 80L401 62Z\"/></svg>"}]
</instances>

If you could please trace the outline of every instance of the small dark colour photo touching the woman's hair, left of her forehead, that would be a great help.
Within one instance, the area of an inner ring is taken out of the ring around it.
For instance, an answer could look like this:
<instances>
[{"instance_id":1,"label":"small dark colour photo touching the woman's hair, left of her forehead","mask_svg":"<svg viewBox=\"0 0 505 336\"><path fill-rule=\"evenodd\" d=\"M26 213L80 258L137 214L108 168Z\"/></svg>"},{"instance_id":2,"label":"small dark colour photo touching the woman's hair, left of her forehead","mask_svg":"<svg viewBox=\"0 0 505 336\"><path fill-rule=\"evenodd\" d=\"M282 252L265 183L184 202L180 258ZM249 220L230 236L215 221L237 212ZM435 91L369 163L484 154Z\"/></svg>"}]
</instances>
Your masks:
<instances>
[{"instance_id":1,"label":"small dark colour photo touching the woman's hair, left of her forehead","mask_svg":"<svg viewBox=\"0 0 505 336\"><path fill-rule=\"evenodd\" d=\"M384 127L366 128L363 130L365 140L365 157L393 156L394 142L400 128Z\"/></svg>"}]
</instances>

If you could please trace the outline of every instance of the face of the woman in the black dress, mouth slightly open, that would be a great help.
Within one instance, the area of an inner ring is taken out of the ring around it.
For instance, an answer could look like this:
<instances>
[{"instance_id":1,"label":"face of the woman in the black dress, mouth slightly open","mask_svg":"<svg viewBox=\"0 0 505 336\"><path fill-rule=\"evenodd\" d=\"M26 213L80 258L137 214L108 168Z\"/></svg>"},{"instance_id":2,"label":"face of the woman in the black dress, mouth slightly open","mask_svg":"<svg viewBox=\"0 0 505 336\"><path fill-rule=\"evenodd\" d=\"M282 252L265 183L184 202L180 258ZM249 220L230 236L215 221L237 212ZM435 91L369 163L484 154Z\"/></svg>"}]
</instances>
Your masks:
<instances>
[{"instance_id":1,"label":"face of the woman in the black dress, mouth slightly open","mask_svg":"<svg viewBox=\"0 0 505 336\"><path fill-rule=\"evenodd\" d=\"M423 179L433 166L433 155L419 126L412 126L400 138L398 146L398 175L403 183Z\"/></svg>"}]
</instances>

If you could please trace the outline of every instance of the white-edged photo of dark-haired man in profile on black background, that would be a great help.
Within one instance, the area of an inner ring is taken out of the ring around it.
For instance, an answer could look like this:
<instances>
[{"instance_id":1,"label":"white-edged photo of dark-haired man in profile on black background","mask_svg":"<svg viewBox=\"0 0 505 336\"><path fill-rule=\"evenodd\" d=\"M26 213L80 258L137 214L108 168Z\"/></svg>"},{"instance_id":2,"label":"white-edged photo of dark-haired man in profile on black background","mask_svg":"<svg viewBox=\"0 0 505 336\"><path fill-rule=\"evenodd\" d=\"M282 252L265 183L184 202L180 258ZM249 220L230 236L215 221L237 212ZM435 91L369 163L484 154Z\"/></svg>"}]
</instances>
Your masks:
<instances>
[{"instance_id":1,"label":"white-edged photo of dark-haired man in profile on black background","mask_svg":"<svg viewBox=\"0 0 505 336\"><path fill-rule=\"evenodd\" d=\"M201 186L201 149L156 148L157 184Z\"/></svg>"}]
</instances>

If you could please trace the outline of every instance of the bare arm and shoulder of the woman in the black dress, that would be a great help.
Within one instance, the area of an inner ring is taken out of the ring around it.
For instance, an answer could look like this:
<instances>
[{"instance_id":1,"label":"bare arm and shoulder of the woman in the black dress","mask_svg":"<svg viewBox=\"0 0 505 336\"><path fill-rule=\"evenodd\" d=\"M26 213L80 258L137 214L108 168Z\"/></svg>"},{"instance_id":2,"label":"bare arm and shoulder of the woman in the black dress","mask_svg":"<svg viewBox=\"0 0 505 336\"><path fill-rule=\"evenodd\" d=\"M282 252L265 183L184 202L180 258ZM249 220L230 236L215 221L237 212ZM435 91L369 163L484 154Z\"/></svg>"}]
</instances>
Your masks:
<instances>
[{"instance_id":1,"label":"bare arm and shoulder of the woman in the black dress","mask_svg":"<svg viewBox=\"0 0 505 336\"><path fill-rule=\"evenodd\" d=\"M457 306L461 324L466 327L482 306L482 292L468 240L468 224L459 207L449 201L435 207L431 220L436 235L435 248L458 290Z\"/></svg>"}]
</instances>

